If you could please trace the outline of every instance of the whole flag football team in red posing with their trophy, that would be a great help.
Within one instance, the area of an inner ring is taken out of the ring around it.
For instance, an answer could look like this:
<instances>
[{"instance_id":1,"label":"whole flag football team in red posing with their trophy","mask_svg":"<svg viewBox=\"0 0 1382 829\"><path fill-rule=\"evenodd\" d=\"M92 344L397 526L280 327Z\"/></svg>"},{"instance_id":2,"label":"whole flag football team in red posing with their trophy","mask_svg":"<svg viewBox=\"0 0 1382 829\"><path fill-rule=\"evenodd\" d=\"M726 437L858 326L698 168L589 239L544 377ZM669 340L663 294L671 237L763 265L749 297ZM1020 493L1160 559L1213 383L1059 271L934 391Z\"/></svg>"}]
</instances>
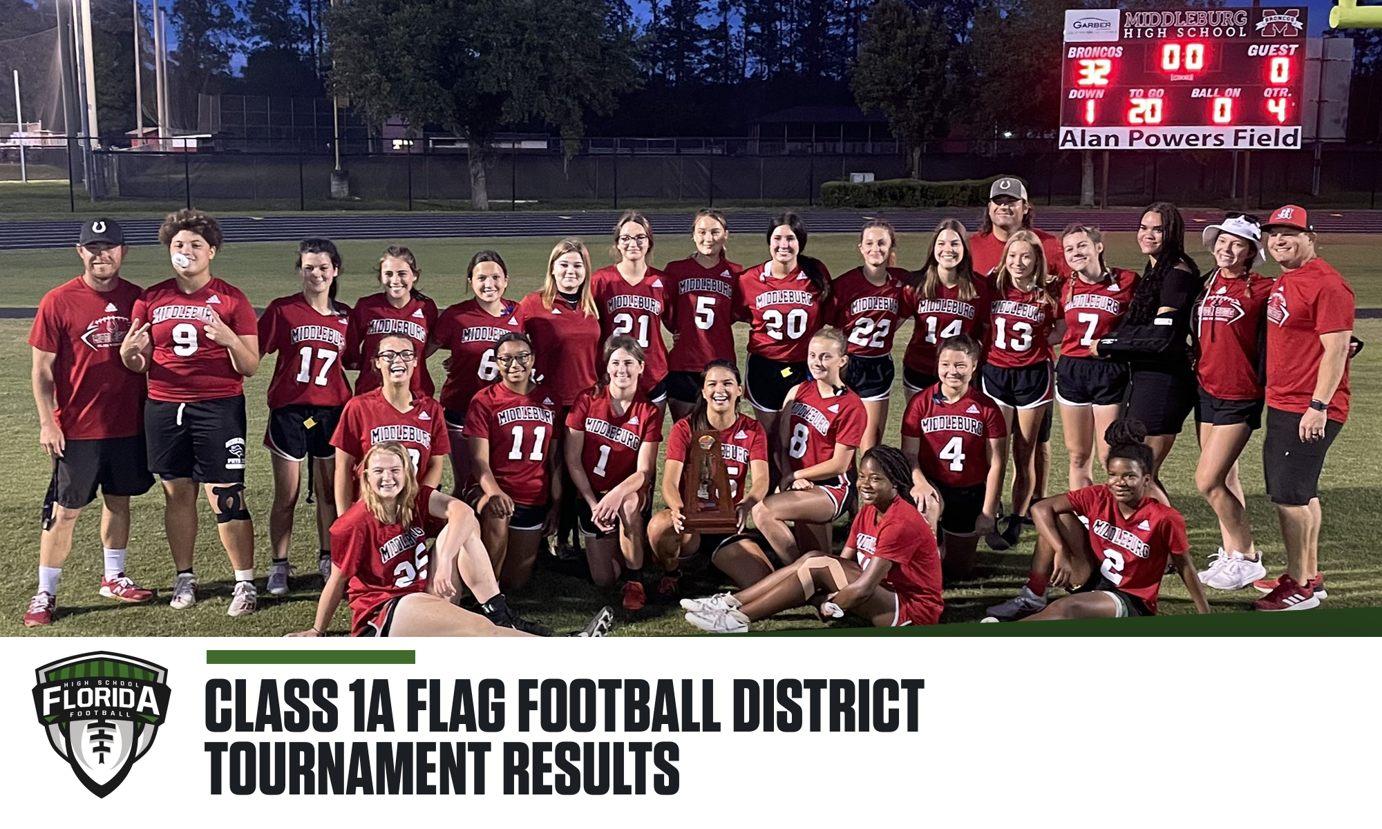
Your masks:
<instances>
[{"instance_id":1,"label":"whole flag football team in red posing with their trophy","mask_svg":"<svg viewBox=\"0 0 1382 829\"><path fill-rule=\"evenodd\" d=\"M1187 239L1157 202L1142 257L1121 263L1095 220L1035 229L1019 178L965 213L905 263L889 222L861 220L858 265L832 275L808 216L735 227L737 263L732 216L701 210L669 242L630 210L608 240L561 239L527 296L502 251L475 251L473 296L448 308L402 246L352 271L377 293L346 305L337 246L308 238L300 279L261 312L214 275L211 216L163 220L171 278L146 287L120 274L117 221L87 221L82 275L43 297L29 336L53 477L23 623L61 629L62 566L95 504L100 594L169 612L199 612L199 517L234 571L231 616L287 594L315 537L321 597L293 636L340 631L343 600L352 636L553 636L510 607L549 566L604 597L569 636L659 605L688 633L803 607L936 625L980 547L1024 533L1025 584L983 622L1155 615L1172 575L1200 613L1240 590L1258 611L1320 607L1318 481L1361 343L1306 210L1229 213ZM659 256L687 232L692 256ZM267 401L247 401L260 370ZM250 434L246 408L265 405ZM1057 421L1068 470L1050 468ZM1259 428L1278 528L1251 525L1240 479ZM1191 551L1168 497L1173 450L1198 457L1213 551ZM272 467L272 493L246 489L252 464ZM126 554L131 499L156 484L176 578L155 591L140 557L162 542ZM1284 561L1255 532L1280 532Z\"/></svg>"}]
</instances>

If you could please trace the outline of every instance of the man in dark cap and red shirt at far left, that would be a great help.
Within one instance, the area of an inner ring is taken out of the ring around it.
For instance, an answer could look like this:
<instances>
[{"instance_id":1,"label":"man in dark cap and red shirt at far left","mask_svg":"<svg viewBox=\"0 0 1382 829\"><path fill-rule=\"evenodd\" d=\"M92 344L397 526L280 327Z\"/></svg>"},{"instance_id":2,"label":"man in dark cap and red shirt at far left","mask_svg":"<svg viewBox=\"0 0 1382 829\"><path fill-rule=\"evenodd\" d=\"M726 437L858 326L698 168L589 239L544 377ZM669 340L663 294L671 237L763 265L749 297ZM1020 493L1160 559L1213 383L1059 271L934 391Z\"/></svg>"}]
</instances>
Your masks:
<instances>
[{"instance_id":1,"label":"man in dark cap and red shirt at far left","mask_svg":"<svg viewBox=\"0 0 1382 829\"><path fill-rule=\"evenodd\" d=\"M130 496L153 484L144 456L144 379L120 362L130 311L142 293L120 278L127 250L116 222L95 218L82 225L83 272L44 294L29 332L39 444L53 457L53 481L43 503L39 591L23 615L26 627L53 623L77 515L98 486L101 595L122 601L153 595L124 575Z\"/></svg>"}]
</instances>

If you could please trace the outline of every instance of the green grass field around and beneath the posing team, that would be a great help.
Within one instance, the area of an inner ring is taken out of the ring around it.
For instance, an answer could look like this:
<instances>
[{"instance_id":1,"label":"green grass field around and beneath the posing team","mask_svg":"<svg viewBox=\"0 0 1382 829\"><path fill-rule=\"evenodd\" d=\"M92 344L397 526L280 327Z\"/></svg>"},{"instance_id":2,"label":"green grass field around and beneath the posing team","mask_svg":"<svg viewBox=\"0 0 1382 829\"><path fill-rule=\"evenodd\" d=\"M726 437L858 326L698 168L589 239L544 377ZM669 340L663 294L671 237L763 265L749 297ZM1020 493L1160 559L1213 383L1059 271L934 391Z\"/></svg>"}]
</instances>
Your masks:
<instances>
[{"instance_id":1,"label":"green grass field around and beneath the posing team","mask_svg":"<svg viewBox=\"0 0 1382 829\"><path fill-rule=\"evenodd\" d=\"M1352 279L1359 294L1359 307L1382 305L1382 289L1375 283L1371 269L1375 263L1368 250L1378 242L1368 236L1332 236L1325 240L1325 256L1346 276ZM538 286L550 250L550 239L455 239L455 240L413 240L408 242L419 256L423 268L422 287L437 298L438 304L457 301L463 297L460 275L470 254L486 246L500 250L514 274L510 296L521 296ZM821 257L835 274L854 265L857 253L854 240L847 236L813 236L810 253ZM922 236L901 239L904 261L911 264L919 258L925 245ZM373 292L370 271L375 257L384 242L344 242L346 257L341 297L352 300ZM1194 246L1198 247L1198 246ZM690 250L685 239L661 240L656 263L684 256ZM760 256L761 243L755 234L731 250L739 261L753 261ZM746 256L744 251L752 251ZM594 251L597 263L608 261L601 245ZM133 249L126 263L124 274L142 285L166 278L170 272L163 264L163 251L152 247ZM1130 235L1124 234L1110 239L1110 261L1125 267L1137 267L1136 250ZM293 246L272 245L228 245L214 268L217 275L240 286L260 305L271 298L296 290L297 278L292 269ZM46 290L69 279L79 271L73 251L8 251L0 253L0 274L7 287L3 305L35 305ZM1273 265L1267 265L1273 272ZM48 479L48 460L37 445L37 417L29 391L29 348L26 337L28 321L0 321L0 468L6 470L11 484L0 488L0 564L17 576L0 586L0 636L37 633L51 636L278 636L290 630L308 627L316 607L321 580L315 576L315 532L311 507L300 502L299 532L293 543L293 561L303 566L304 573L293 580L293 591L282 598L261 594L260 612L245 619L229 619L225 608L229 602L229 564L216 537L216 525L210 510L202 507L200 532L198 540L198 575L202 580L202 604L189 611L171 611L166 597L144 607L120 607L97 595L101 573L101 543L97 510L83 515L77 525L76 546L64 571L59 591L59 619L51 627L40 631L26 631L21 616L33 594L36 584L39 543L39 507ZM744 352L746 330L737 326L739 354ZM1378 439L1382 431L1382 321L1360 321L1357 334L1372 343L1352 366L1353 416L1339 435L1329 453L1321 479L1325 525L1321 537L1321 561L1328 575L1329 600L1327 607L1376 607L1382 605L1382 551L1375 539L1382 536L1382 513L1378 510L1378 486L1372 471L1376 463ZM908 333L897 343L897 356L905 348ZM437 355L433 370L441 373L441 359ZM271 358L272 359L272 358ZM264 432L267 408L264 395L272 374L269 361L260 373L246 383L250 401L249 437L257 445ZM901 387L894 397L894 412L889 423L889 442L897 444L901 417ZM1056 420L1056 434L1052 438L1052 490L1059 492L1066 479L1066 452L1060 438L1060 420ZM1190 540L1197 561L1218 546L1219 532L1212 511L1194 490L1195 446L1191 432L1171 453L1165 468L1165 481L1171 496L1184 515L1190 528ZM1282 565L1282 547L1276 524L1276 513L1263 495L1260 432L1249 444L1242 456L1242 481L1248 492L1248 506L1256 531L1258 544L1266 553L1269 569L1278 571ZM449 471L448 471L449 478ZM268 550L268 507L272 500L272 479L267 452L256 450L249 468L249 502L256 517L257 550L260 553L260 575L265 572ZM449 485L449 481L448 481ZM661 499L659 499L661 502ZM173 583L173 566L163 540L163 499L158 492L135 499L133 506L134 529L129 571L148 587L167 593ZM836 533L836 539L843 536ZM1025 535L1017 551L987 553L976 576L966 582L951 584L947 590L947 622L977 622L983 609L1014 593L1023 583L1031 553L1032 533ZM688 584L697 590L694 584ZM714 584L701 583L712 590ZM1213 593L1209 598L1218 612L1247 611L1256 591L1236 594ZM600 604L612 601L612 595L594 589L587 580L558 575L553 571L539 571L532 584L524 593L514 595L514 604L525 613L539 618L557 629L575 629ZM1193 612L1189 597L1179 580L1169 578L1164 583L1161 608L1164 613ZM677 634L691 633L680 613L672 608L654 608L627 615L621 612L618 634ZM806 611L785 613L770 622L755 626L761 630L789 627L817 627L814 616ZM348 629L348 611L343 607L337 613L333 630Z\"/></svg>"}]
</instances>

